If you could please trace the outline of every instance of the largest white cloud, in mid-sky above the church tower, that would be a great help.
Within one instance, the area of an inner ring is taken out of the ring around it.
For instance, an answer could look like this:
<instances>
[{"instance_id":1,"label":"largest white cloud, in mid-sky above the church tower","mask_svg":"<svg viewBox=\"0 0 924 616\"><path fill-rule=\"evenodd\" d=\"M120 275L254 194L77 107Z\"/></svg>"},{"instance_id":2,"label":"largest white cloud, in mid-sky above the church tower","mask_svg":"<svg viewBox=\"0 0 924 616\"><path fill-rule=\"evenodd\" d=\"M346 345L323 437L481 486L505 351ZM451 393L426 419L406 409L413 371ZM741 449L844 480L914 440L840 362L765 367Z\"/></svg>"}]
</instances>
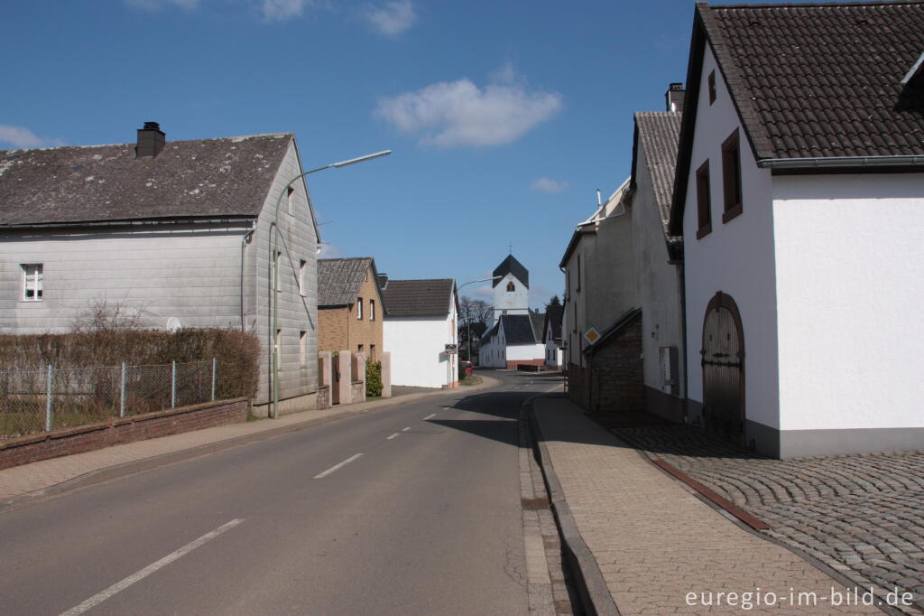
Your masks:
<instances>
[{"instance_id":1,"label":"largest white cloud, in mid-sky above the church tower","mask_svg":"<svg viewBox=\"0 0 924 616\"><path fill-rule=\"evenodd\" d=\"M502 68L494 78L484 88L463 78L385 97L375 115L420 143L449 148L515 142L562 108L561 94L529 92L512 68Z\"/></svg>"}]
</instances>

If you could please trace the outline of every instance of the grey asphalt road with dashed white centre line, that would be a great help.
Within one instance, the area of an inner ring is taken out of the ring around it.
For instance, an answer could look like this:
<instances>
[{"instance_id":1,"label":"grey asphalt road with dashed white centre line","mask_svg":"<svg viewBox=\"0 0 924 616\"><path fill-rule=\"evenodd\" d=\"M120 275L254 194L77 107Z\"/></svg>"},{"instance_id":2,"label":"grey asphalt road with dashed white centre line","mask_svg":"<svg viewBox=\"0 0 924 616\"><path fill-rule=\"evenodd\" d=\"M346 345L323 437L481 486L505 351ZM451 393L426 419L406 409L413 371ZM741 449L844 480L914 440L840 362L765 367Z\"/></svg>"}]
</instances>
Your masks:
<instances>
[{"instance_id":1,"label":"grey asphalt road with dashed white centre line","mask_svg":"<svg viewBox=\"0 0 924 616\"><path fill-rule=\"evenodd\" d=\"M516 418L558 379L490 374L0 512L0 613L527 613Z\"/></svg>"}]
</instances>

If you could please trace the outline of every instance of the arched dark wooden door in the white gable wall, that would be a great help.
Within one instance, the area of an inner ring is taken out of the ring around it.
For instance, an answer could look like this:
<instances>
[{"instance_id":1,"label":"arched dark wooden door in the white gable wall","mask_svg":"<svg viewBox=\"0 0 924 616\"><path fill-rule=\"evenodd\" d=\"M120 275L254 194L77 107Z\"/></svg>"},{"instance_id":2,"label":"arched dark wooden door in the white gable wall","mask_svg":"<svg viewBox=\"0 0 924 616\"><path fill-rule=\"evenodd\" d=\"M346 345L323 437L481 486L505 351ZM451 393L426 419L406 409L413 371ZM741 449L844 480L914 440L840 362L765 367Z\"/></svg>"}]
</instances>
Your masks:
<instances>
[{"instance_id":1,"label":"arched dark wooden door in the white gable wall","mask_svg":"<svg viewBox=\"0 0 924 616\"><path fill-rule=\"evenodd\" d=\"M702 325L703 426L745 445L745 339L741 314L730 295L718 292Z\"/></svg>"}]
</instances>

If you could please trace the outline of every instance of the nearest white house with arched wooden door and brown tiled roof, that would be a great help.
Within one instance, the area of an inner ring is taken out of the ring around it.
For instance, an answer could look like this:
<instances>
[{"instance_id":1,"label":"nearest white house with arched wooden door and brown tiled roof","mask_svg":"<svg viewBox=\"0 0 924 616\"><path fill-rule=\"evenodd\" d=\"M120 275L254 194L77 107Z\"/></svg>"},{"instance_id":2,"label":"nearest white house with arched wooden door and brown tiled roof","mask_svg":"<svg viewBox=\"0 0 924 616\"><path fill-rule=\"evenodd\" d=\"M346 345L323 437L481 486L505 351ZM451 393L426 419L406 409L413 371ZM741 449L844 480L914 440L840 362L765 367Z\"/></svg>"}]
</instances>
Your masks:
<instances>
[{"instance_id":1,"label":"nearest white house with arched wooden door and brown tiled roof","mask_svg":"<svg viewBox=\"0 0 924 616\"><path fill-rule=\"evenodd\" d=\"M693 421L924 449L924 4L697 6L670 232Z\"/></svg>"}]
</instances>

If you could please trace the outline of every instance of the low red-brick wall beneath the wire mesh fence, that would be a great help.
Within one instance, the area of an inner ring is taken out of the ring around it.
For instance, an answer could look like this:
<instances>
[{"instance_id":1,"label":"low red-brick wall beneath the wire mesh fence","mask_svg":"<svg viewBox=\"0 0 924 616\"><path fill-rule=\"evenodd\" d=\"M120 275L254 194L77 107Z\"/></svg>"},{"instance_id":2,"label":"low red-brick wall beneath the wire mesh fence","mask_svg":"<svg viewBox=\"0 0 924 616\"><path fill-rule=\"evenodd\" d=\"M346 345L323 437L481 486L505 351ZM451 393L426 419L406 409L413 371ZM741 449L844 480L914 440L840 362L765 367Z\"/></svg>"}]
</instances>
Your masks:
<instances>
[{"instance_id":1,"label":"low red-brick wall beneath the wire mesh fence","mask_svg":"<svg viewBox=\"0 0 924 616\"><path fill-rule=\"evenodd\" d=\"M219 400L14 438L0 443L0 469L136 440L237 424L247 420L248 408L247 398Z\"/></svg>"}]
</instances>

